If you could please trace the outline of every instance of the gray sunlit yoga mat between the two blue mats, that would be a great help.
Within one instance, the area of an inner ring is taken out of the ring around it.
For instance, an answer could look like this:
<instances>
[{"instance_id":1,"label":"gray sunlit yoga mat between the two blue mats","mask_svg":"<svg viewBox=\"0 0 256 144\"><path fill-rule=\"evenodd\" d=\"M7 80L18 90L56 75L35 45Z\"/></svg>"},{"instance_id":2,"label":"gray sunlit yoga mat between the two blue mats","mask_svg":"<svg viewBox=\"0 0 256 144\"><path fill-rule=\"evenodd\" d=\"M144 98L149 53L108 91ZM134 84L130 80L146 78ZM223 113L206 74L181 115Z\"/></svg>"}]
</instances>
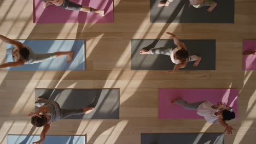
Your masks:
<instances>
[{"instance_id":1,"label":"gray sunlit yoga mat between the two blue mats","mask_svg":"<svg viewBox=\"0 0 256 144\"><path fill-rule=\"evenodd\" d=\"M95 107L86 115L73 115L66 119L119 119L119 88L35 89L35 93L36 99L43 97L57 101L61 109Z\"/></svg>"}]
</instances>

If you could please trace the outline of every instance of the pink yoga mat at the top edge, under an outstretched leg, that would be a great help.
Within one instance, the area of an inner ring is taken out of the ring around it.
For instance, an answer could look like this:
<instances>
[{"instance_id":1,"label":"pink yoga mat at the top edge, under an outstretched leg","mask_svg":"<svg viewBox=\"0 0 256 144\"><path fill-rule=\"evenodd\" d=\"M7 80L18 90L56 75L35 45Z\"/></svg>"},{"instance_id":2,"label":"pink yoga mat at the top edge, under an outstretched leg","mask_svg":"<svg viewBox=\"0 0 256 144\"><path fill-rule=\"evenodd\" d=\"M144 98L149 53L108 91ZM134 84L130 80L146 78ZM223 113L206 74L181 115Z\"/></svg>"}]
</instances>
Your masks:
<instances>
[{"instance_id":1,"label":"pink yoga mat at the top edge, under an outstretched leg","mask_svg":"<svg viewBox=\"0 0 256 144\"><path fill-rule=\"evenodd\" d=\"M85 23L85 22L113 22L113 0L71 0L84 6L95 9L104 9L105 15L101 17L95 13L66 10L55 5L43 8L40 0L33 0L34 23Z\"/></svg>"}]
</instances>

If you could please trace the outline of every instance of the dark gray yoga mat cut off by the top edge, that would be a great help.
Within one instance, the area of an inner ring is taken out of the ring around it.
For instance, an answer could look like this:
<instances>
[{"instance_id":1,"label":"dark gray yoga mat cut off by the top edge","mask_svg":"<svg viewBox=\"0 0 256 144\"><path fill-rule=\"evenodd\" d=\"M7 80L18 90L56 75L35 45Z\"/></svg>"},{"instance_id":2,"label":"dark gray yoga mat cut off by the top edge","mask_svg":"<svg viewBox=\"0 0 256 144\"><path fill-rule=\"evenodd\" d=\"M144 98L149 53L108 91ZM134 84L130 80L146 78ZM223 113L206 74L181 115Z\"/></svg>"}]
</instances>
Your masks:
<instances>
[{"instance_id":1,"label":"dark gray yoga mat cut off by the top edge","mask_svg":"<svg viewBox=\"0 0 256 144\"><path fill-rule=\"evenodd\" d=\"M173 0L168 7L158 7L161 0L150 0L150 22L234 23L235 1L213 1L218 4L208 12L209 7L194 8L189 0Z\"/></svg>"}]
</instances>

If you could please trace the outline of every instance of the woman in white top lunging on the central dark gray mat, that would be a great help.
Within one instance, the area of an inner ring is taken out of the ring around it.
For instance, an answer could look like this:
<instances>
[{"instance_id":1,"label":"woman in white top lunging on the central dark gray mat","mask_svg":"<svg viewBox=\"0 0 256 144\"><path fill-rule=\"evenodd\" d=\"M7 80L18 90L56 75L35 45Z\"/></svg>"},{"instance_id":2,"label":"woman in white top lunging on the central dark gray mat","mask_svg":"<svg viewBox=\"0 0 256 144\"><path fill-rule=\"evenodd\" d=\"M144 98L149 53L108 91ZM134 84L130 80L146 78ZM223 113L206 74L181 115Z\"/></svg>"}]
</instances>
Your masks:
<instances>
[{"instance_id":1,"label":"woman in white top lunging on the central dark gray mat","mask_svg":"<svg viewBox=\"0 0 256 144\"><path fill-rule=\"evenodd\" d=\"M188 55L187 47L184 43L180 42L177 36L173 33L167 33L170 34L174 40L174 44L177 46L173 47L160 47L157 49L150 49L149 51L142 49L139 53L140 54L161 54L161 55L168 55L171 57L171 60L176 65L172 70L168 70L167 73L173 73L174 71L185 68L188 62L193 62L194 67L197 67L201 61L201 57L193 55Z\"/></svg>"}]
</instances>

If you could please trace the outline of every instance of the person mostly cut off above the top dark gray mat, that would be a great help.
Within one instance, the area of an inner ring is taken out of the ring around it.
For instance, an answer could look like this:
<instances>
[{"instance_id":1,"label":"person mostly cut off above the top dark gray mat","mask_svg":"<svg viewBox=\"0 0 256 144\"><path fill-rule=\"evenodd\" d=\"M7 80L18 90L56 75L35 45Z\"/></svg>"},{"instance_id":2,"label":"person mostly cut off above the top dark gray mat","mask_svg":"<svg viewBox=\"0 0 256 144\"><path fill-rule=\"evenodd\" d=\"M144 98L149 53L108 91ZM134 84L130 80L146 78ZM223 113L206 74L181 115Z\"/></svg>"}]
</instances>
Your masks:
<instances>
[{"instance_id":1,"label":"person mostly cut off above the top dark gray mat","mask_svg":"<svg viewBox=\"0 0 256 144\"><path fill-rule=\"evenodd\" d=\"M167 0L165 3L158 3L158 7L167 7L173 0ZM189 0L190 4L195 8L201 8L205 6L210 6L207 11L211 12L216 6L217 3L212 0Z\"/></svg>"}]
</instances>

